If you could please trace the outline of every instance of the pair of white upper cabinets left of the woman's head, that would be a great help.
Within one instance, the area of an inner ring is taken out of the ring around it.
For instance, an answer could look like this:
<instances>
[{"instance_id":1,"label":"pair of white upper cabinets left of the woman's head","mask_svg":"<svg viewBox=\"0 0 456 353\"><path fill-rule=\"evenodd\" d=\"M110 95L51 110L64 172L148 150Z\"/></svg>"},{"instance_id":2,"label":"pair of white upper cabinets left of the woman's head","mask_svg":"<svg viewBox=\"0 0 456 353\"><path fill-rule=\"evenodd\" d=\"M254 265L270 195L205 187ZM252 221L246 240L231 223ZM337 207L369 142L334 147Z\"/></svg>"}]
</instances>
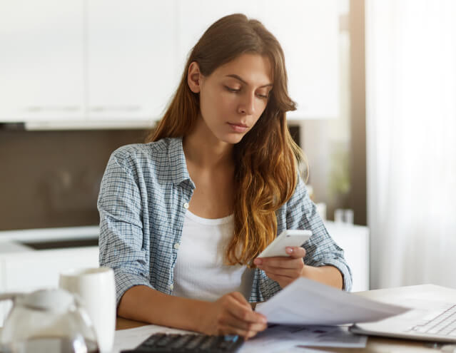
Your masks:
<instances>
[{"instance_id":1,"label":"pair of white upper cabinets left of the woman's head","mask_svg":"<svg viewBox=\"0 0 456 353\"><path fill-rule=\"evenodd\" d=\"M177 81L174 10L147 0L1 4L0 121L151 126Z\"/></svg>"}]
</instances>

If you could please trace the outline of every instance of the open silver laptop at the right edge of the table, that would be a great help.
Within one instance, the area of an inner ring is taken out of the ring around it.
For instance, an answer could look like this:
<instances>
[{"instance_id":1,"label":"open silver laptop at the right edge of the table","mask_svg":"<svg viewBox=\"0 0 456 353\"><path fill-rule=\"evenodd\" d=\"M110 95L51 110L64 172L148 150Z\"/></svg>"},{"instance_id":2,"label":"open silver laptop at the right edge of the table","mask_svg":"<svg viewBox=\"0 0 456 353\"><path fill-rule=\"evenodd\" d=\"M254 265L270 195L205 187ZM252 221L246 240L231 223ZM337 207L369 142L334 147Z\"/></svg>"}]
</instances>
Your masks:
<instances>
[{"instance_id":1,"label":"open silver laptop at the right edge of the table","mask_svg":"<svg viewBox=\"0 0 456 353\"><path fill-rule=\"evenodd\" d=\"M456 342L456 303L429 300L405 300L410 311L378 322L353 324L355 334L418 339L432 342Z\"/></svg>"}]
</instances>

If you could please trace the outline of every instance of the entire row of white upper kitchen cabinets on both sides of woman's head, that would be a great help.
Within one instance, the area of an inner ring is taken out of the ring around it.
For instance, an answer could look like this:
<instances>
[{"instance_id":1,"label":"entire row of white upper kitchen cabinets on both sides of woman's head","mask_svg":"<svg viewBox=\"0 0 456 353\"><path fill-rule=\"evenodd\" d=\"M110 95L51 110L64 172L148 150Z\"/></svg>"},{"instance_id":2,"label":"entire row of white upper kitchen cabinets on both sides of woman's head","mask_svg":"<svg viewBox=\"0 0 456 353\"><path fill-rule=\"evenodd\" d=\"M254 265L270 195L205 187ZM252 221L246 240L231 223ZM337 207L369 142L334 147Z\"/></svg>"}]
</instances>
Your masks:
<instances>
[{"instance_id":1,"label":"entire row of white upper kitchen cabinets on both sides of woman's head","mask_svg":"<svg viewBox=\"0 0 456 353\"><path fill-rule=\"evenodd\" d=\"M0 4L0 122L143 127L161 118L186 56L226 14L264 22L283 46L289 118L339 111L338 2L57 0Z\"/></svg>"}]
</instances>

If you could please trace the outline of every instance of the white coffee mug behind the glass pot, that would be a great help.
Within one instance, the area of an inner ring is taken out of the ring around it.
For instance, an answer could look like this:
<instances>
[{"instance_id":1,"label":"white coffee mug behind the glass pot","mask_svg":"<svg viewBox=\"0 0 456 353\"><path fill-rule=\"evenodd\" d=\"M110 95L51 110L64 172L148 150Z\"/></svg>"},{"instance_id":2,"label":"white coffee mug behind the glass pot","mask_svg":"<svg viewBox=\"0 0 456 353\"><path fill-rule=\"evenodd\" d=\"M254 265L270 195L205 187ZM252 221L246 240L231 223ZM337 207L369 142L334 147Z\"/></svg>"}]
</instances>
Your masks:
<instances>
[{"instance_id":1,"label":"white coffee mug behind the glass pot","mask_svg":"<svg viewBox=\"0 0 456 353\"><path fill-rule=\"evenodd\" d=\"M116 330L116 287L109 267L69 270L60 274L59 287L83 300L95 328L98 349L111 352Z\"/></svg>"}]
</instances>

